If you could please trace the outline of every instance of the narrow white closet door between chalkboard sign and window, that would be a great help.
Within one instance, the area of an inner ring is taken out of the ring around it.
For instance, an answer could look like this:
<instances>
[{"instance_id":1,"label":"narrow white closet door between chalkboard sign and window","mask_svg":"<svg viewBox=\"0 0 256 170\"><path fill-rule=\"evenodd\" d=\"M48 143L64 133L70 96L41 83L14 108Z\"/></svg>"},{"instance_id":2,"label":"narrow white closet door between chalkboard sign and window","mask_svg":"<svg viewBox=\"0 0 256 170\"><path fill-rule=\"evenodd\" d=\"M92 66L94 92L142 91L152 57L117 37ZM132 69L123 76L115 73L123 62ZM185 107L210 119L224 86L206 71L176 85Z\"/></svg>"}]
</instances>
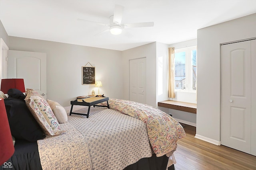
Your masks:
<instances>
[{"instance_id":1,"label":"narrow white closet door between chalkboard sign and window","mask_svg":"<svg viewBox=\"0 0 256 170\"><path fill-rule=\"evenodd\" d=\"M130 101L146 104L146 58L130 60Z\"/></svg>"}]
</instances>

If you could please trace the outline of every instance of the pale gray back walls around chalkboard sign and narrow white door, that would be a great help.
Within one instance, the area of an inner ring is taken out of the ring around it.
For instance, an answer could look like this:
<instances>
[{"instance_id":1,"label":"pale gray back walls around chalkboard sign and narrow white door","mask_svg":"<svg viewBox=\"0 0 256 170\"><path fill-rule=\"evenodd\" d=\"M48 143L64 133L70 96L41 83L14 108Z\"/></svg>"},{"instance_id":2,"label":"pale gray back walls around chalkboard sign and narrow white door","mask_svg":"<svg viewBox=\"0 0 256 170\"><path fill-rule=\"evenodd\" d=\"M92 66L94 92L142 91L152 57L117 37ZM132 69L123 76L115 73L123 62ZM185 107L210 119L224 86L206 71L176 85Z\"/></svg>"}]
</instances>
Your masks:
<instances>
[{"instance_id":1,"label":"pale gray back walls around chalkboard sign and narrow white door","mask_svg":"<svg viewBox=\"0 0 256 170\"><path fill-rule=\"evenodd\" d=\"M167 48L167 45L158 43L158 53L164 47ZM46 53L47 98L63 106L69 106L70 100L76 96L88 95L93 89L98 91L94 85L82 85L81 69L87 62L96 67L96 80L102 81L103 86L101 94L129 100L129 60L146 57L146 104L157 106L156 42L116 51L10 36L9 49ZM166 52L167 49L164 50L165 58ZM167 94L167 85L163 86Z\"/></svg>"}]
</instances>

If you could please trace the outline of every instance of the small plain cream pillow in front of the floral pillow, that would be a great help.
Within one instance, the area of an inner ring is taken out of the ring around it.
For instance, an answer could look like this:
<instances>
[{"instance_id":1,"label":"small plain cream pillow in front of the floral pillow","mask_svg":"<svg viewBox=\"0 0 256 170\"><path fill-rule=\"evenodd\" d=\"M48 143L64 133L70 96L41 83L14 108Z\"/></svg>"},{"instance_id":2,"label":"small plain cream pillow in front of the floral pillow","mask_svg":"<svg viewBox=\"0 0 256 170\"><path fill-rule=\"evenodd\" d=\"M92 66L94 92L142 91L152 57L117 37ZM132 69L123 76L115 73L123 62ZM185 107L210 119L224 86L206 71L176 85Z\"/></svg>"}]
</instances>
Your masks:
<instances>
[{"instance_id":1,"label":"small plain cream pillow in front of the floral pillow","mask_svg":"<svg viewBox=\"0 0 256 170\"><path fill-rule=\"evenodd\" d=\"M62 107L58 102L47 99L54 115L56 116L59 123L66 123L68 121L68 115L64 107Z\"/></svg>"}]
</instances>

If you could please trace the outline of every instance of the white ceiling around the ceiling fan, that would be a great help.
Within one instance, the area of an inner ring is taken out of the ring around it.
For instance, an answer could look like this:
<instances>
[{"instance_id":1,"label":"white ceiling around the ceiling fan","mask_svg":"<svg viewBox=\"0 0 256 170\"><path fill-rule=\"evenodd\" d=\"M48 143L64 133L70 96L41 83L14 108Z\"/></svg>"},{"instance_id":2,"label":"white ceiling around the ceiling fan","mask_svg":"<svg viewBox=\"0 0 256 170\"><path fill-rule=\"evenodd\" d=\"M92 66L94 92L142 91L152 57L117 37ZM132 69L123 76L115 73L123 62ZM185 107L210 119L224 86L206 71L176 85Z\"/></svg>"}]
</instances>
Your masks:
<instances>
[{"instance_id":1,"label":"white ceiling around the ceiling fan","mask_svg":"<svg viewBox=\"0 0 256 170\"><path fill-rule=\"evenodd\" d=\"M106 26L77 20L109 23L115 4L124 6L122 23L153 21L154 27L112 35L100 33ZM253 13L256 0L0 0L0 20L9 36L119 51L195 39L197 29Z\"/></svg>"}]
</instances>

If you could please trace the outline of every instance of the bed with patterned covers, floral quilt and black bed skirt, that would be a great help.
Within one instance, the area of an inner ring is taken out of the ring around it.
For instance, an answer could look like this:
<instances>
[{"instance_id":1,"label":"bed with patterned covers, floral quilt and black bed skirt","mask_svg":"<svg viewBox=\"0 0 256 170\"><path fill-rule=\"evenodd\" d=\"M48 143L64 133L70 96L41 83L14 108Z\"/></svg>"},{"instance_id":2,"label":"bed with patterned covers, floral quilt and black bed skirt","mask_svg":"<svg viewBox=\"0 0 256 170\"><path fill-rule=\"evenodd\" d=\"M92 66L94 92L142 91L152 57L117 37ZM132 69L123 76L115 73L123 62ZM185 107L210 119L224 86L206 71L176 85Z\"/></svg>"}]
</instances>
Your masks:
<instances>
[{"instance_id":1,"label":"bed with patterned covers, floral quilt and black bed skirt","mask_svg":"<svg viewBox=\"0 0 256 170\"><path fill-rule=\"evenodd\" d=\"M33 90L27 94L30 94L25 99L27 107L31 101L36 103L35 99L42 98ZM33 95L38 96L32 100ZM40 101L45 107L50 103ZM91 108L89 118L70 116L70 106L60 107L67 121L52 107L52 115L62 123L55 128L50 125L50 132L44 129L42 135L46 137L39 135L42 139L16 139L14 155L7 163L11 162L12 168L17 170L165 170L168 163L168 169L174 168L176 142L185 137L184 129L175 119L152 106L127 100L110 99L109 106L110 109ZM87 109L86 106L73 108L77 113L86 113ZM50 122L56 123L54 120ZM42 126L39 125L41 129ZM4 165L0 169L5 169Z\"/></svg>"}]
</instances>

